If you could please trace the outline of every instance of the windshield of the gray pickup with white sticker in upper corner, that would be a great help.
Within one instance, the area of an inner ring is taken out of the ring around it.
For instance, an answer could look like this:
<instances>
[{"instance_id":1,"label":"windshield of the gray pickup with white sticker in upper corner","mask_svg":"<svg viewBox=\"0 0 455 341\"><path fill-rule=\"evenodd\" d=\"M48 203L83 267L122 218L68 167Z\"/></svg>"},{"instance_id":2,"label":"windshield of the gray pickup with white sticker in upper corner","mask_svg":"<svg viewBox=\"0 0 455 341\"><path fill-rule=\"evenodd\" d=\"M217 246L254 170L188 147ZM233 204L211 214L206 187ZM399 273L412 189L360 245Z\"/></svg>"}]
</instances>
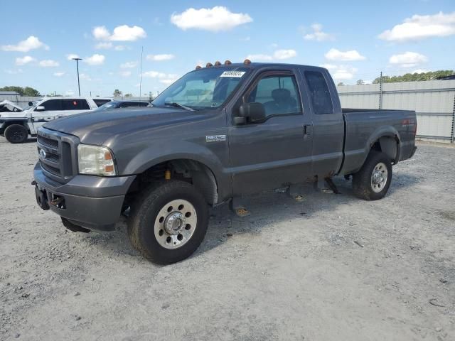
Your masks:
<instances>
[{"instance_id":1,"label":"windshield of the gray pickup with white sticker in upper corner","mask_svg":"<svg viewBox=\"0 0 455 341\"><path fill-rule=\"evenodd\" d=\"M245 79L245 67L210 67L188 72L152 102L154 107L210 109L220 107Z\"/></svg>"}]
</instances>

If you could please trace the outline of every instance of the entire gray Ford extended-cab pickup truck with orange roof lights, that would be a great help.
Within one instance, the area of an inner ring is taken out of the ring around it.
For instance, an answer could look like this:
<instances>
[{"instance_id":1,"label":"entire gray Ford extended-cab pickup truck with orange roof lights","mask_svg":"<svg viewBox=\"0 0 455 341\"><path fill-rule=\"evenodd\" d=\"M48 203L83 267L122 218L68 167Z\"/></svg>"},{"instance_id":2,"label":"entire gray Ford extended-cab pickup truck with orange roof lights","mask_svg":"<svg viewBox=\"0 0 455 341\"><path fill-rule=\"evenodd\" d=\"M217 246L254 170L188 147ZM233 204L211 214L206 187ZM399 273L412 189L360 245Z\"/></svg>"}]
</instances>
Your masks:
<instances>
[{"instance_id":1,"label":"entire gray Ford extended-cab pickup truck with orange roof lights","mask_svg":"<svg viewBox=\"0 0 455 341\"><path fill-rule=\"evenodd\" d=\"M209 207L242 195L353 175L355 195L382 198L416 129L411 111L341 109L321 67L227 60L188 72L152 107L48 122L32 184L68 229L112 230L127 215L132 245L170 264L198 248Z\"/></svg>"}]
</instances>

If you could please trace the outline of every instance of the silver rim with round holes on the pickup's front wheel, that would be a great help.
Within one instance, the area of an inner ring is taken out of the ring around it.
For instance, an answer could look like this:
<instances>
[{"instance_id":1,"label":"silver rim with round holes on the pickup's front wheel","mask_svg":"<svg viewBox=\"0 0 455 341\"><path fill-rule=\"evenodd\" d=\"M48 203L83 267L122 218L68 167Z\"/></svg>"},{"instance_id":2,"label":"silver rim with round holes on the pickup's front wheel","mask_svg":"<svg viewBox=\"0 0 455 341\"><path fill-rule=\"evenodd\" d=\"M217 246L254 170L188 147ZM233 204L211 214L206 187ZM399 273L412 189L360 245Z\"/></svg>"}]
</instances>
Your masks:
<instances>
[{"instance_id":1,"label":"silver rim with round holes on the pickup's front wheel","mask_svg":"<svg viewBox=\"0 0 455 341\"><path fill-rule=\"evenodd\" d=\"M156 241L165 249L183 247L193 237L198 215L191 202L172 200L159 210L155 219Z\"/></svg>"}]
</instances>

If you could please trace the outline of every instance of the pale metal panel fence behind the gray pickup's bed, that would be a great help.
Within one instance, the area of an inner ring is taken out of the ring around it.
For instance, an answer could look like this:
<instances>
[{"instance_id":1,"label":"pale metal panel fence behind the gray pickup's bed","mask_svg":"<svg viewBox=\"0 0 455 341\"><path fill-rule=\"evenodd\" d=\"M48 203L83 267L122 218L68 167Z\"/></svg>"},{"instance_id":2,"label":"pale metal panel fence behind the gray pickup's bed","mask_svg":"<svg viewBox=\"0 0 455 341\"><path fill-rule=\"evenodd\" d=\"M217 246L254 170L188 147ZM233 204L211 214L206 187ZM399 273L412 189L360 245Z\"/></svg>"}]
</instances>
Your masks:
<instances>
[{"instance_id":1,"label":"pale metal panel fence behind the gray pickup's bed","mask_svg":"<svg viewBox=\"0 0 455 341\"><path fill-rule=\"evenodd\" d=\"M344 85L337 90L343 108L415 110L419 139L454 143L455 80Z\"/></svg>"}]
</instances>

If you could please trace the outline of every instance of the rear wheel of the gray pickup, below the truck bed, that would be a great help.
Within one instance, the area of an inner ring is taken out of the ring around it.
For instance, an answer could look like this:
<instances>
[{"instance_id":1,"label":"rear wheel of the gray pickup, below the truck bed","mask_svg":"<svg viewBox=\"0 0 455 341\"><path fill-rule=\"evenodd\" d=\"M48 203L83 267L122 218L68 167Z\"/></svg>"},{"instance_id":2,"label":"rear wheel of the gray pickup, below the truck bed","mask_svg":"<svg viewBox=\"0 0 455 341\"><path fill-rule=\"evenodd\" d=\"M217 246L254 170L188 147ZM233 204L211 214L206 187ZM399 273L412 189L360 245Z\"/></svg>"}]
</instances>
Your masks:
<instances>
[{"instance_id":1,"label":"rear wheel of the gray pickup, below the truck bed","mask_svg":"<svg viewBox=\"0 0 455 341\"><path fill-rule=\"evenodd\" d=\"M376 169L380 164L385 165L382 168ZM382 171L381 171L382 169ZM382 172L381 178L385 178L385 184L380 181L376 183L373 180L373 171ZM387 173L386 175L384 175ZM363 163L360 171L353 174L353 191L357 197L365 200L379 200L385 196L387 190L389 190L390 183L392 181L392 163L390 158L381 153L380 151L370 151L365 163Z\"/></svg>"}]
</instances>

